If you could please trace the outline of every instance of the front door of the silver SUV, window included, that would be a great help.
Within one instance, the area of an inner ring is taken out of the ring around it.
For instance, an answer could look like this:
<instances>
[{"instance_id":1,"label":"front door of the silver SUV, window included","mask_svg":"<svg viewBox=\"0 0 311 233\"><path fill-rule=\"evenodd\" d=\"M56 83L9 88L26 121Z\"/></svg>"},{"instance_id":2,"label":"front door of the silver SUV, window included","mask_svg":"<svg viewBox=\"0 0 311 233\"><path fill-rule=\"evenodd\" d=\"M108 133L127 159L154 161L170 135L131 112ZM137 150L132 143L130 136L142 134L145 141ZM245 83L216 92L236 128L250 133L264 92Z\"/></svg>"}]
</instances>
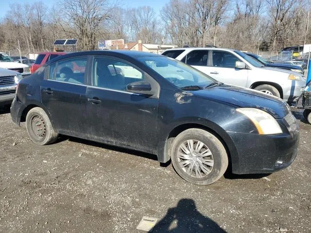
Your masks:
<instances>
[{"instance_id":1,"label":"front door of the silver SUV, window included","mask_svg":"<svg viewBox=\"0 0 311 233\"><path fill-rule=\"evenodd\" d=\"M236 62L241 60L229 51L210 50L207 74L212 78L227 84L246 87L247 69L237 69Z\"/></svg>"}]
</instances>

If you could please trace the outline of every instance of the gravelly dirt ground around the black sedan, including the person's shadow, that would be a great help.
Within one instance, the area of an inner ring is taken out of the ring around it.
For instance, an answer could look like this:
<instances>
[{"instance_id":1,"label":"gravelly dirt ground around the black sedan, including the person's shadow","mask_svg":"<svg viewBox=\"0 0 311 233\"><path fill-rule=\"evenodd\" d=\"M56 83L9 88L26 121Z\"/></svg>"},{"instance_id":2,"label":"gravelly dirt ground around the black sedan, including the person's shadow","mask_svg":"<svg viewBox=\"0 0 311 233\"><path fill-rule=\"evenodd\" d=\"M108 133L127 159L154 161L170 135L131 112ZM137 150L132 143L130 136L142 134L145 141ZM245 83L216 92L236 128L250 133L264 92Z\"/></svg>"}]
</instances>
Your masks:
<instances>
[{"instance_id":1,"label":"gravelly dirt ground around the black sedan, including the person's shadow","mask_svg":"<svg viewBox=\"0 0 311 233\"><path fill-rule=\"evenodd\" d=\"M311 125L295 116L290 167L198 186L137 151L65 136L36 146L0 109L0 232L142 232L149 216L159 220L153 232L310 233Z\"/></svg>"}]
</instances>

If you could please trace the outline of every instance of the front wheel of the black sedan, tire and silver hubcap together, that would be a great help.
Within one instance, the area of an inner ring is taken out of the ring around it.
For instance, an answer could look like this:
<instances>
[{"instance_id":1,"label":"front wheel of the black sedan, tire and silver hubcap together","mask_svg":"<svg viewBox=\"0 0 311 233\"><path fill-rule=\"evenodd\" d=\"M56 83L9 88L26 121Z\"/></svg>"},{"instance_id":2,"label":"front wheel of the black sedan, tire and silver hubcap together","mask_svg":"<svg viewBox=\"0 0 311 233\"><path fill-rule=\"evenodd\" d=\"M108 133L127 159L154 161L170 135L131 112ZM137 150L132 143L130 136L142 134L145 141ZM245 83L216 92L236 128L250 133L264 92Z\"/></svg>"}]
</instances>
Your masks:
<instances>
[{"instance_id":1,"label":"front wheel of the black sedan, tire and silver hubcap together","mask_svg":"<svg viewBox=\"0 0 311 233\"><path fill-rule=\"evenodd\" d=\"M178 134L171 153L175 171L194 184L216 182L228 166L224 145L215 135L202 129L188 129Z\"/></svg>"}]
</instances>

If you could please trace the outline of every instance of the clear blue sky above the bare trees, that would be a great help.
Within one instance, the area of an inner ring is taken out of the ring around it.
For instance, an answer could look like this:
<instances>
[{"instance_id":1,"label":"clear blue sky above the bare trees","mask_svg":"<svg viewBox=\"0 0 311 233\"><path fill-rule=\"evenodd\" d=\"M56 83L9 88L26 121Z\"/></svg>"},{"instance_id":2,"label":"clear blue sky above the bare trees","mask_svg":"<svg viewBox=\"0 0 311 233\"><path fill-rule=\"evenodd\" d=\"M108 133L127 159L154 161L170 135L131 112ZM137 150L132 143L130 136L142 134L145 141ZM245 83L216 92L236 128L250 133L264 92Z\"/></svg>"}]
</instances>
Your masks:
<instances>
[{"instance_id":1,"label":"clear blue sky above the bare trees","mask_svg":"<svg viewBox=\"0 0 311 233\"><path fill-rule=\"evenodd\" d=\"M10 4L20 3L23 4L33 3L39 0L1 0L1 7L0 7L0 18L4 17L6 13L10 9ZM57 3L57 0L42 0L46 5L49 7L53 4ZM138 6L151 6L154 8L156 13L159 13L160 9L165 5L165 3L169 2L169 0L118 0L121 7L138 7Z\"/></svg>"}]
</instances>

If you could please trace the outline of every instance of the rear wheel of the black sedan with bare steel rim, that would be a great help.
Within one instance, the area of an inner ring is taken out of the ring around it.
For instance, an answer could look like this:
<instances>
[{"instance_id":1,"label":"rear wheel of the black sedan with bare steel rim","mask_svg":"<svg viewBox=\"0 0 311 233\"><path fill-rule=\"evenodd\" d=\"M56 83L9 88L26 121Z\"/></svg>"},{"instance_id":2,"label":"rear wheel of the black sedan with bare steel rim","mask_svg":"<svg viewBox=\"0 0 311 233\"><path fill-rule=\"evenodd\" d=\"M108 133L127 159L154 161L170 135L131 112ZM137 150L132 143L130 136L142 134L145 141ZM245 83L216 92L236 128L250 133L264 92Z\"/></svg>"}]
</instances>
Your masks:
<instances>
[{"instance_id":1,"label":"rear wheel of the black sedan with bare steel rim","mask_svg":"<svg viewBox=\"0 0 311 233\"><path fill-rule=\"evenodd\" d=\"M58 138L48 115L42 108L32 108L26 116L26 129L30 139L38 145L48 145Z\"/></svg>"}]
</instances>

